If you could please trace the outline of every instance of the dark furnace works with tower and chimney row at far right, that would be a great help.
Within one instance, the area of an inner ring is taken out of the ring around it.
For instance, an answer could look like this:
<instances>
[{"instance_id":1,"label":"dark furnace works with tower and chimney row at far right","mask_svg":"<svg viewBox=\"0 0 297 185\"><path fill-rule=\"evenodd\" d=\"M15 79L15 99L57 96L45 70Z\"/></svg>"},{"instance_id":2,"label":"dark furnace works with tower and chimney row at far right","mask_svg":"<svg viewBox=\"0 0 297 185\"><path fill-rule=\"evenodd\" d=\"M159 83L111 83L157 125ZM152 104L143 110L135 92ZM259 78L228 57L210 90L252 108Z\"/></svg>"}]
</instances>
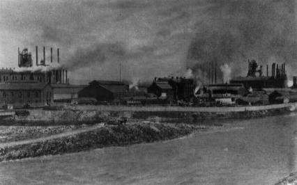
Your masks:
<instances>
[{"instance_id":1,"label":"dark furnace works with tower and chimney row at far right","mask_svg":"<svg viewBox=\"0 0 297 185\"><path fill-rule=\"evenodd\" d=\"M286 88L287 74L285 64L273 63L271 66L271 76L268 76L268 65L266 66L266 77L263 74L262 66L258 66L256 61L249 61L247 77L236 77L230 83L242 83L245 88Z\"/></svg>"}]
</instances>

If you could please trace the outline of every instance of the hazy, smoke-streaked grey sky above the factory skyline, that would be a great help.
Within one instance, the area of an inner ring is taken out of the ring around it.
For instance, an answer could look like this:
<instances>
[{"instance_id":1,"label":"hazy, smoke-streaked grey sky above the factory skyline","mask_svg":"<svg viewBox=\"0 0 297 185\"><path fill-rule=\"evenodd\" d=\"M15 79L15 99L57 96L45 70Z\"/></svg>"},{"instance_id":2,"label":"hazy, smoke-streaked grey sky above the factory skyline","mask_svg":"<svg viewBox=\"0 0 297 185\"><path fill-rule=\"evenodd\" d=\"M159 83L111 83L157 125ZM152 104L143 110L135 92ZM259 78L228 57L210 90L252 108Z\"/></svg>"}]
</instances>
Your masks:
<instances>
[{"instance_id":1,"label":"hazy, smoke-streaked grey sky above the factory skyline","mask_svg":"<svg viewBox=\"0 0 297 185\"><path fill-rule=\"evenodd\" d=\"M285 62L296 73L295 1L0 1L0 67L17 67L17 48L60 49L70 83L151 81L215 61L246 75L248 59ZM121 67L120 67L121 66ZM220 77L220 74L218 74Z\"/></svg>"}]
</instances>

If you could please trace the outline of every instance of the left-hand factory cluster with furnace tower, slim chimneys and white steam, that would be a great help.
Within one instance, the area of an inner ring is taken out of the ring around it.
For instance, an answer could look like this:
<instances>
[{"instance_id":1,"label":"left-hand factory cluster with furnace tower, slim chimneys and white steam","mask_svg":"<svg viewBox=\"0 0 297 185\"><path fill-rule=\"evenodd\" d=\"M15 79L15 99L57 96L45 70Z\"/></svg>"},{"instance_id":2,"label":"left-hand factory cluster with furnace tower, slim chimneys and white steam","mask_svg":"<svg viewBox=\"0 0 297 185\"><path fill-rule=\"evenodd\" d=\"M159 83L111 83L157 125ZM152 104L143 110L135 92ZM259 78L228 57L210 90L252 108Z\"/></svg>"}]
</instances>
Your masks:
<instances>
[{"instance_id":1,"label":"left-hand factory cluster with furnace tower, slim chimneys and white steam","mask_svg":"<svg viewBox=\"0 0 297 185\"><path fill-rule=\"evenodd\" d=\"M60 63L59 48L53 57L50 48L50 61L46 61L45 47L43 57L33 65L31 52L18 49L18 68L0 69L0 106L11 104L13 107L49 106L61 100L77 98L77 92L84 86L70 85L68 72ZM54 67L58 66L58 67Z\"/></svg>"}]
</instances>

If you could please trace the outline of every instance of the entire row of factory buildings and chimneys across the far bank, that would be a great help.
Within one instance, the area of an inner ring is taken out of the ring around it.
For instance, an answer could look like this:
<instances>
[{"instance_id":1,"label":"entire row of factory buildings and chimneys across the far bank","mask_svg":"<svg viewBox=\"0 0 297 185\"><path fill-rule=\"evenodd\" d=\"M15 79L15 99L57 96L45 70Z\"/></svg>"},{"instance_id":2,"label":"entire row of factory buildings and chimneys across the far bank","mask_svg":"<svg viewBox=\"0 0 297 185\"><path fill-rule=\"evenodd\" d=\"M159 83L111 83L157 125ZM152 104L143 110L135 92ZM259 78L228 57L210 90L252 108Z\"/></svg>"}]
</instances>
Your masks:
<instances>
[{"instance_id":1,"label":"entire row of factory buildings and chimneys across the far bank","mask_svg":"<svg viewBox=\"0 0 297 185\"><path fill-rule=\"evenodd\" d=\"M292 87L287 87L285 64L273 63L271 73L266 65L248 61L246 77L235 77L229 83L216 83L217 64L209 65L208 83L197 83L195 78L155 77L146 86L137 84L129 88L123 81L93 80L86 85L70 84L68 70L61 67L59 49L53 61L43 58L33 65L31 52L18 49L17 70L0 70L0 104L2 107L27 108L54 106L57 104L168 104L183 106L236 106L241 104L275 104L297 100L297 78ZM54 63L52 67L52 64ZM215 68L215 69L214 69ZM270 74L270 75L269 75ZM213 83L214 82L214 83Z\"/></svg>"}]
</instances>

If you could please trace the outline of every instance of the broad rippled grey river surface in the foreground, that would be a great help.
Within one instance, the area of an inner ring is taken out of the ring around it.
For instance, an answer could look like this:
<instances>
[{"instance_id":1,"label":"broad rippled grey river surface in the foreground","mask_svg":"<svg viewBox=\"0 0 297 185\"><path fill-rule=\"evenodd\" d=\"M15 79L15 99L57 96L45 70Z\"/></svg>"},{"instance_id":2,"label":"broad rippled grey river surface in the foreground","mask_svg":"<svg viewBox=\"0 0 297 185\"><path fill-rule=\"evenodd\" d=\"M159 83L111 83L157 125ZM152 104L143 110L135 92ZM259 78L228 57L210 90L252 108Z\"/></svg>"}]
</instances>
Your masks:
<instances>
[{"instance_id":1,"label":"broad rippled grey river surface in the foreground","mask_svg":"<svg viewBox=\"0 0 297 185\"><path fill-rule=\"evenodd\" d=\"M275 184L296 171L297 114L229 131L0 163L0 184Z\"/></svg>"}]
</instances>

